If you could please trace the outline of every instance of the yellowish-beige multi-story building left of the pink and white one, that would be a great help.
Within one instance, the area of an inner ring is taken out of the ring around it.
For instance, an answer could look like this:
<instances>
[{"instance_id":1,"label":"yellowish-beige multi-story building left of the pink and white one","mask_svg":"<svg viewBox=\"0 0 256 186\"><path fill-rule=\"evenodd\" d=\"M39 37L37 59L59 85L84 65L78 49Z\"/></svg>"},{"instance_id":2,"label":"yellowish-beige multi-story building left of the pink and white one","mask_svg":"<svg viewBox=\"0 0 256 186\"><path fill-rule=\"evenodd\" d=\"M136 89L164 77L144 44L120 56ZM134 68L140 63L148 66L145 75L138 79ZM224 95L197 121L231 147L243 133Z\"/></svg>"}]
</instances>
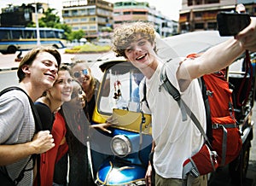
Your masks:
<instances>
[{"instance_id":1,"label":"yellowish-beige multi-story building left of the pink and white one","mask_svg":"<svg viewBox=\"0 0 256 186\"><path fill-rule=\"evenodd\" d=\"M113 27L113 3L103 0L68 0L63 2L62 17L73 31L83 30L84 38L104 37L106 27Z\"/></svg>"}]
</instances>

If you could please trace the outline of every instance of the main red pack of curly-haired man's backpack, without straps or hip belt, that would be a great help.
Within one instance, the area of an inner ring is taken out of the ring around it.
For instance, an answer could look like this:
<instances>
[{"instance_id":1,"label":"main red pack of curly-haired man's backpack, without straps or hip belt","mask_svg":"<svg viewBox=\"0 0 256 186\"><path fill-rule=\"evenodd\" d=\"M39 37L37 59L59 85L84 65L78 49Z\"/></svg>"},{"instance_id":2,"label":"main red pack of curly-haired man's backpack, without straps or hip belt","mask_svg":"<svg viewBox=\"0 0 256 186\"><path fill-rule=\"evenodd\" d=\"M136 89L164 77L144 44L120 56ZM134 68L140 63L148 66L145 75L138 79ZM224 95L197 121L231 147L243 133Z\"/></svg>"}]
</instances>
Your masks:
<instances>
[{"instance_id":1,"label":"main red pack of curly-haired man's backpack, without straps or hip belt","mask_svg":"<svg viewBox=\"0 0 256 186\"><path fill-rule=\"evenodd\" d=\"M241 133L236 125L232 102L232 90L224 78L224 72L211 73L202 78L207 88L211 113L212 149L218 154L219 166L225 166L235 160L240 153ZM211 128L210 126L210 128ZM209 125L207 125L209 128Z\"/></svg>"}]
</instances>

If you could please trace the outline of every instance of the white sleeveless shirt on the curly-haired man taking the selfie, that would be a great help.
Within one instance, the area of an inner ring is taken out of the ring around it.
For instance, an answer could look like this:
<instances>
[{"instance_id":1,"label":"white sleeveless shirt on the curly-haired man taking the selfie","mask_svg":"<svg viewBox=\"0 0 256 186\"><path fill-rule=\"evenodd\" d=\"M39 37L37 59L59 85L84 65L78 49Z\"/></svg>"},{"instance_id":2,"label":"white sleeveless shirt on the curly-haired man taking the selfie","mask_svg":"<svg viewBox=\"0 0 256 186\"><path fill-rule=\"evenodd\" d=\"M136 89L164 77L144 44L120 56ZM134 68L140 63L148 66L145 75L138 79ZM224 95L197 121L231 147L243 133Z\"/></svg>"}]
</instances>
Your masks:
<instances>
[{"instance_id":1,"label":"white sleeveless shirt on the curly-haired man taking the selfie","mask_svg":"<svg viewBox=\"0 0 256 186\"><path fill-rule=\"evenodd\" d=\"M180 58L166 63L166 74L172 84L180 91L176 72ZM147 100L152 114L152 136L154 148L154 168L157 174L166 178L182 178L183 162L197 153L204 140L189 115L182 120L181 110L172 96L160 85L159 64L153 76L146 80ZM195 113L206 130L206 114L198 80L194 79L181 97ZM145 106L145 104L143 104Z\"/></svg>"}]
</instances>

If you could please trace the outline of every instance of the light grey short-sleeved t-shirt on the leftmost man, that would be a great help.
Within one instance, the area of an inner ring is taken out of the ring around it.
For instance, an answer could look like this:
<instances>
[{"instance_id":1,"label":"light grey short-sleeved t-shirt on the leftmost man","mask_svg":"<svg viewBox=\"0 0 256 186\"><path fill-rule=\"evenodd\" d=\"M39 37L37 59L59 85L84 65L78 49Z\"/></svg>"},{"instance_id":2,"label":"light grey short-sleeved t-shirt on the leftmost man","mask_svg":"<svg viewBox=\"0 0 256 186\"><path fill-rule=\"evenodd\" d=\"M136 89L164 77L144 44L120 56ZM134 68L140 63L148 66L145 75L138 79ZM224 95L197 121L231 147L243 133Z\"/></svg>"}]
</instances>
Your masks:
<instances>
[{"instance_id":1,"label":"light grey short-sleeved t-shirt on the leftmost man","mask_svg":"<svg viewBox=\"0 0 256 186\"><path fill-rule=\"evenodd\" d=\"M28 97L20 90L10 90L0 96L0 144L17 144L32 141L35 121ZM15 179L26 166L26 159L6 166L9 176ZM32 160L26 169L32 167ZM3 168L3 167L1 167ZM18 185L32 185L32 171L26 171Z\"/></svg>"}]
</instances>

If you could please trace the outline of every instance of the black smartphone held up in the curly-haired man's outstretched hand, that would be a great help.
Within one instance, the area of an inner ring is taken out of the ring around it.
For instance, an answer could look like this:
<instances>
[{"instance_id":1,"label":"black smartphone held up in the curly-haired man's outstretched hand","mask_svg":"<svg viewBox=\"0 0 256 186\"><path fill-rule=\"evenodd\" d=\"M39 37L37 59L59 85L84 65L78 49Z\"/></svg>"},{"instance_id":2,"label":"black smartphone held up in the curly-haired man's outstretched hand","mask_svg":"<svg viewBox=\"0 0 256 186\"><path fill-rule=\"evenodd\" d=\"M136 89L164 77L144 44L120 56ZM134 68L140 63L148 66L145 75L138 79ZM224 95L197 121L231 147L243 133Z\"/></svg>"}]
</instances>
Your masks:
<instances>
[{"instance_id":1,"label":"black smartphone held up in the curly-haired man's outstretched hand","mask_svg":"<svg viewBox=\"0 0 256 186\"><path fill-rule=\"evenodd\" d=\"M250 15L236 12L220 12L217 15L218 32L220 36L236 36L251 22Z\"/></svg>"}]
</instances>

